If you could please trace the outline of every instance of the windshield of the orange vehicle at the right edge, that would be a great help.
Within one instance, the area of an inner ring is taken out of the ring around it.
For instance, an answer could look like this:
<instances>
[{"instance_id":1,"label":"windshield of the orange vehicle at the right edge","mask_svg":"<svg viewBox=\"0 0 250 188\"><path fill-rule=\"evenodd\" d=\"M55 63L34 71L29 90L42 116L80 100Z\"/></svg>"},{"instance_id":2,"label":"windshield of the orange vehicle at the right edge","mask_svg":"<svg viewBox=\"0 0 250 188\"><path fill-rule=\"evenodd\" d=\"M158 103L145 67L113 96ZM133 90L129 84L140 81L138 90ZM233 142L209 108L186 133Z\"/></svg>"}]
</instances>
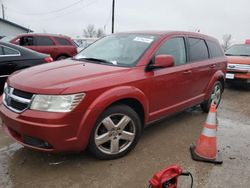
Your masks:
<instances>
[{"instance_id":1,"label":"windshield of the orange vehicle at the right edge","mask_svg":"<svg viewBox=\"0 0 250 188\"><path fill-rule=\"evenodd\" d=\"M250 56L250 45L233 45L225 54L227 56Z\"/></svg>"}]
</instances>

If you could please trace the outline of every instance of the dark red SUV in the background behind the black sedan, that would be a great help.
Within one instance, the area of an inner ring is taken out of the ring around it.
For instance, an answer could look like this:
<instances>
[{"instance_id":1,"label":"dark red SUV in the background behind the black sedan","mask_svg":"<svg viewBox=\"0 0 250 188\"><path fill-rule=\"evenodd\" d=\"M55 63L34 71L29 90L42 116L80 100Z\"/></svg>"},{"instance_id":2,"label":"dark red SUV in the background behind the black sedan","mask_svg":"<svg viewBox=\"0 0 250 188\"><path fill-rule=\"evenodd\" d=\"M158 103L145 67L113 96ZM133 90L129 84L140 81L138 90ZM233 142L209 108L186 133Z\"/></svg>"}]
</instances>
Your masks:
<instances>
[{"instance_id":1,"label":"dark red SUV in the background behind the black sedan","mask_svg":"<svg viewBox=\"0 0 250 188\"><path fill-rule=\"evenodd\" d=\"M71 38L63 35L22 34L10 40L10 43L50 54L54 60L73 57L77 53L77 48Z\"/></svg>"}]
</instances>

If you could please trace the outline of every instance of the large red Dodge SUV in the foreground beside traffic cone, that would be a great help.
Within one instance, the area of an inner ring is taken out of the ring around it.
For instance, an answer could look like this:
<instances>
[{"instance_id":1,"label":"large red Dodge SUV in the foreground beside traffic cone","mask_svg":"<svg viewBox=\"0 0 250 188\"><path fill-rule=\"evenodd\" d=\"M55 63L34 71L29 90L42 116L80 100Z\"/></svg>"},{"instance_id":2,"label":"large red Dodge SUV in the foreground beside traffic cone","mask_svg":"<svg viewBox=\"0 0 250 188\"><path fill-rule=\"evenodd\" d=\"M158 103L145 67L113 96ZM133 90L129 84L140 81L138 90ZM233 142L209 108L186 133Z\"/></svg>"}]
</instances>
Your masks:
<instances>
[{"instance_id":1,"label":"large red Dodge SUV in the foreground beside traffic cone","mask_svg":"<svg viewBox=\"0 0 250 188\"><path fill-rule=\"evenodd\" d=\"M47 152L101 159L132 150L145 125L201 104L219 105L226 57L212 37L189 32L120 33L74 59L9 77L0 117L9 135Z\"/></svg>"}]
</instances>

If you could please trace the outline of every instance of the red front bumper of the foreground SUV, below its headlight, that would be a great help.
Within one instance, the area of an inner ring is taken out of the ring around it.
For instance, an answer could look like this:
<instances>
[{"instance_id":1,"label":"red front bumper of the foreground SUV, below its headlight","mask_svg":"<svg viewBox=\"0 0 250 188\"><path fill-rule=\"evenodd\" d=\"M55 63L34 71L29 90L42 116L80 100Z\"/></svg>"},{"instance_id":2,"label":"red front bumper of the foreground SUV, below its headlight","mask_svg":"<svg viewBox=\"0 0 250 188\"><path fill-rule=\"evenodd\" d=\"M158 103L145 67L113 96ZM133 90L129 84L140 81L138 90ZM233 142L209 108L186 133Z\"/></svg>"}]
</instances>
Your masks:
<instances>
[{"instance_id":1,"label":"red front bumper of the foreground SUV, below its headlight","mask_svg":"<svg viewBox=\"0 0 250 188\"><path fill-rule=\"evenodd\" d=\"M26 110L17 114L0 102L4 130L22 145L46 152L81 151L78 138L82 113L47 113Z\"/></svg>"}]
</instances>

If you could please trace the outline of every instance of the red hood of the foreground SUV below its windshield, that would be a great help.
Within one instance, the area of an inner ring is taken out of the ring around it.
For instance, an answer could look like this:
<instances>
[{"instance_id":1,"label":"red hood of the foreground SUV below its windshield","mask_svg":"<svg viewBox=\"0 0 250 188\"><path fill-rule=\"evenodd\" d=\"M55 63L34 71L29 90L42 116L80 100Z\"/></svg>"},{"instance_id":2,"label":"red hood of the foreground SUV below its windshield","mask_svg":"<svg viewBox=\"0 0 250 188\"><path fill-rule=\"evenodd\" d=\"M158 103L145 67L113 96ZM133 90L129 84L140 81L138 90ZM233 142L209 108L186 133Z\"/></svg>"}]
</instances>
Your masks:
<instances>
[{"instance_id":1,"label":"red hood of the foreground SUV below its windshield","mask_svg":"<svg viewBox=\"0 0 250 188\"><path fill-rule=\"evenodd\" d=\"M75 93L108 85L117 76L125 76L130 69L67 59L16 72L9 77L8 83L31 93Z\"/></svg>"}]
</instances>

